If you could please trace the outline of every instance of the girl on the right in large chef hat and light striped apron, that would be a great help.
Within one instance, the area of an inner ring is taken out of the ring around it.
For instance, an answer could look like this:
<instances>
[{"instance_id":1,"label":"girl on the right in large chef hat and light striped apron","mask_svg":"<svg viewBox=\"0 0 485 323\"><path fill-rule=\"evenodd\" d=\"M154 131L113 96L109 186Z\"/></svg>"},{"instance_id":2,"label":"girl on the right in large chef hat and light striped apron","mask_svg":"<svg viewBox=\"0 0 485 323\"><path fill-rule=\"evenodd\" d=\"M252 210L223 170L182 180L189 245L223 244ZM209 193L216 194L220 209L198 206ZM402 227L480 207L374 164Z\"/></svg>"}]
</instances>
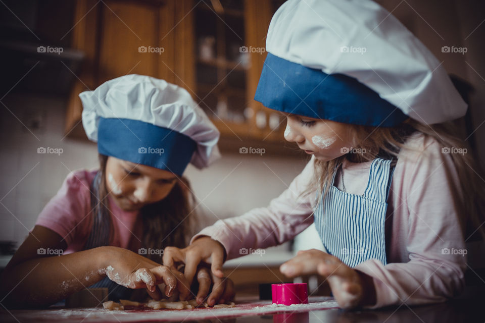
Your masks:
<instances>
[{"instance_id":1,"label":"girl on the right in large chef hat and light striped apron","mask_svg":"<svg viewBox=\"0 0 485 323\"><path fill-rule=\"evenodd\" d=\"M285 139L312 158L268 207L166 248L164 263L185 262L189 282L201 261L222 276L240 248L281 244L314 222L327 252L301 251L280 271L325 277L341 307L458 294L484 195L471 153L442 124L466 104L441 64L367 0L289 0L266 47L255 99L283 113Z\"/></svg>"}]
</instances>

